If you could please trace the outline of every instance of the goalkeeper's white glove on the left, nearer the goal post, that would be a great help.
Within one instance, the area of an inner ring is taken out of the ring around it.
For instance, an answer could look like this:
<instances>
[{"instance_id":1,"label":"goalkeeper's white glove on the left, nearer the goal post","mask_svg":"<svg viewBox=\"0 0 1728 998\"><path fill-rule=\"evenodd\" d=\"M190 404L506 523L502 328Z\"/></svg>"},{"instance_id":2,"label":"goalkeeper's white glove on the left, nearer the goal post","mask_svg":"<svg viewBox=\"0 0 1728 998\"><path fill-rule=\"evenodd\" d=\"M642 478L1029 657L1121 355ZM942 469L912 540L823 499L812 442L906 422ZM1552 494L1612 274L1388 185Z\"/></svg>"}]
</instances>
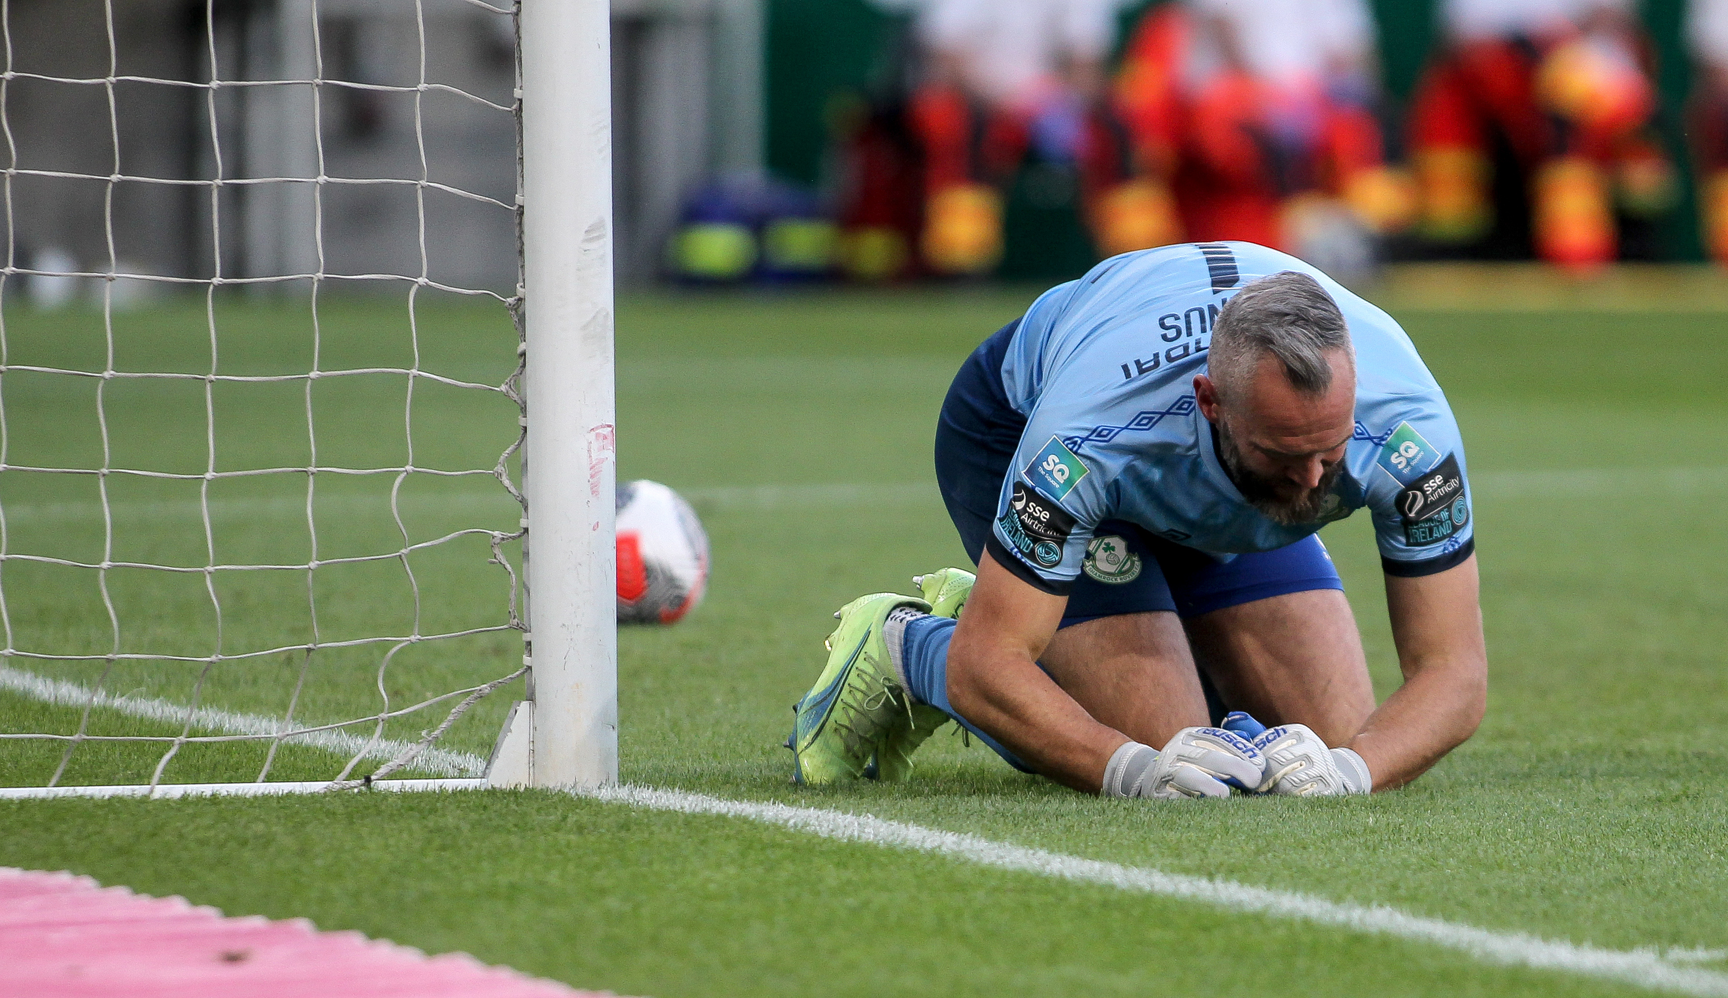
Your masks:
<instances>
[{"instance_id":1,"label":"goalkeeper's white glove on the left, nearer the goal post","mask_svg":"<svg viewBox=\"0 0 1728 998\"><path fill-rule=\"evenodd\" d=\"M1223 728L1182 728L1165 751L1125 742L1104 766L1106 797L1229 797L1265 778L1253 742Z\"/></svg>"}]
</instances>

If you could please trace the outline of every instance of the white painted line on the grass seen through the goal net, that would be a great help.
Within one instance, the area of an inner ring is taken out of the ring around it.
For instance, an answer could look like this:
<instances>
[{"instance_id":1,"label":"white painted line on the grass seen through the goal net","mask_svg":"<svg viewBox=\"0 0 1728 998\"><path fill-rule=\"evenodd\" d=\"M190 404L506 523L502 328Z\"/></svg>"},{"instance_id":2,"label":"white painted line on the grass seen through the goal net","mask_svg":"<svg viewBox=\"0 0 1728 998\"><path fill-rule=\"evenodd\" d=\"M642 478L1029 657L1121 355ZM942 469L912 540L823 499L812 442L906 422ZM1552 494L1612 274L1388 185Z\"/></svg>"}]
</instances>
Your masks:
<instances>
[{"instance_id":1,"label":"white painted line on the grass seen through the goal net","mask_svg":"<svg viewBox=\"0 0 1728 998\"><path fill-rule=\"evenodd\" d=\"M185 704L159 701L156 697L95 692L90 687L67 683L64 680L50 680L48 676L38 676L36 673L14 669L10 666L0 666L0 690L22 694L57 707L83 709L85 704L93 702L97 709L118 711L145 721L175 726L187 723ZM95 694L93 701L92 694ZM218 707L195 707L192 711L192 726L204 732L221 732L225 735L275 735L282 732L282 720L266 718L263 714L240 714L237 711L223 711ZM394 759L410 747L410 742L399 742L394 739L372 742L370 739L353 732L325 730L295 733L297 730L301 728L289 728L287 733L283 733L283 744L309 745L314 749L340 752L344 756L365 752L365 758L380 761ZM434 745L420 752L415 761L408 764L408 768L430 773L434 777L479 777L486 771L486 759L470 752L453 752Z\"/></svg>"}]
</instances>

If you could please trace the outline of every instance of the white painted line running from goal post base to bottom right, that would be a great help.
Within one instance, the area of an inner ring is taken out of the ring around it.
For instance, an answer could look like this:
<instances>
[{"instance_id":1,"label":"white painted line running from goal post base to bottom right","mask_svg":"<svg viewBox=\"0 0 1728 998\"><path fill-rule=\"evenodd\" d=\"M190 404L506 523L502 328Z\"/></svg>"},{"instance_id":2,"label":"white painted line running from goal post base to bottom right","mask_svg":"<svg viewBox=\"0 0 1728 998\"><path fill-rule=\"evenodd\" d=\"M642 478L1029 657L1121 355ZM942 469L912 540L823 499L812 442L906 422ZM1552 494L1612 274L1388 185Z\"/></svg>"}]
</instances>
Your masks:
<instances>
[{"instance_id":1,"label":"white painted line running from goal post base to bottom right","mask_svg":"<svg viewBox=\"0 0 1728 998\"><path fill-rule=\"evenodd\" d=\"M864 842L890 849L911 849L918 853L935 853L950 856L980 867L1013 870L1020 873L1037 873L1059 880L1080 884L1097 884L1118 891L1139 894L1158 894L1199 901L1230 912L1267 915L1272 918L1291 918L1363 932L1370 936L1391 936L1415 943L1429 943L1446 950L1457 950L1484 963L1507 967L1531 967L1538 970L1562 970L1586 977L1600 977L1647 988L1652 991L1673 991L1678 995L1728 996L1728 974L1683 967L1666 960L1652 950L1600 950L1597 946L1579 946L1541 939L1524 932L1495 932L1476 925L1460 925L1439 918L1410 915L1384 905L1363 906L1343 901L1329 901L1312 894L1294 891L1274 891L1270 887L1251 887L1232 880L1213 880L1191 877L1185 873L1165 873L1144 867L1123 867L1101 860L1083 860L1064 856L1044 849L1028 849L1007 842L992 842L978 835L961 832L943 832L888 822L871 815L848 815L843 811L823 811L817 808L795 808L790 804L729 801L708 797L684 790L660 790L653 787L598 787L579 790L581 796L648 808L655 811L679 811L684 815L719 815L726 818L745 818L766 825L779 825L795 832L838 839L843 842ZM1144 806L1144 804L1128 804ZM1697 958L1704 951L1678 950L1676 962Z\"/></svg>"}]
</instances>

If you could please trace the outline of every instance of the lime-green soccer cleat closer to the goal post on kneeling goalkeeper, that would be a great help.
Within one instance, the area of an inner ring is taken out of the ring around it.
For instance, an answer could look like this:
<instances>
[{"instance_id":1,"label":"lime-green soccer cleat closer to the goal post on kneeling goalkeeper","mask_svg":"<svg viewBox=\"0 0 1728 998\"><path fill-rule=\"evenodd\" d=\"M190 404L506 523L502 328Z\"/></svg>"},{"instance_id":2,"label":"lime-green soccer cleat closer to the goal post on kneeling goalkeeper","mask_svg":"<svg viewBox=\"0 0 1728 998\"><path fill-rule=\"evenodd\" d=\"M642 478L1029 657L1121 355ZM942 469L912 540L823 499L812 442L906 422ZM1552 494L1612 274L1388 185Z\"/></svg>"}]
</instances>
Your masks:
<instances>
[{"instance_id":1,"label":"lime-green soccer cleat closer to the goal post on kneeling goalkeeper","mask_svg":"<svg viewBox=\"0 0 1728 998\"><path fill-rule=\"evenodd\" d=\"M893 728L911 726L905 687L893 675L881 635L895 607L930 611L930 604L916 597L871 593L835 614L840 626L828 637L828 666L793 707L786 739L793 784L880 777L874 756L883 740Z\"/></svg>"}]
</instances>

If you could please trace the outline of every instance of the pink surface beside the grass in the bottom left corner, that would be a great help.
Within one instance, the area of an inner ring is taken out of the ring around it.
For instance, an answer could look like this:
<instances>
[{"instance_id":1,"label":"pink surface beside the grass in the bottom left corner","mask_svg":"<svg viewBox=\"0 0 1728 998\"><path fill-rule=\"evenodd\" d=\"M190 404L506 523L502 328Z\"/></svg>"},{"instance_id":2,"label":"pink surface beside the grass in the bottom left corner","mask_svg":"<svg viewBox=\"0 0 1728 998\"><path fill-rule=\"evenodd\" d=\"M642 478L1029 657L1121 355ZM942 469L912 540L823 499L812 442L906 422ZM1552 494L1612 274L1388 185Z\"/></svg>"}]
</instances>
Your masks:
<instances>
[{"instance_id":1,"label":"pink surface beside the grass in the bottom left corner","mask_svg":"<svg viewBox=\"0 0 1728 998\"><path fill-rule=\"evenodd\" d=\"M31 998L572 998L556 981L427 956L306 918L228 918L185 898L0 867L0 995Z\"/></svg>"}]
</instances>

